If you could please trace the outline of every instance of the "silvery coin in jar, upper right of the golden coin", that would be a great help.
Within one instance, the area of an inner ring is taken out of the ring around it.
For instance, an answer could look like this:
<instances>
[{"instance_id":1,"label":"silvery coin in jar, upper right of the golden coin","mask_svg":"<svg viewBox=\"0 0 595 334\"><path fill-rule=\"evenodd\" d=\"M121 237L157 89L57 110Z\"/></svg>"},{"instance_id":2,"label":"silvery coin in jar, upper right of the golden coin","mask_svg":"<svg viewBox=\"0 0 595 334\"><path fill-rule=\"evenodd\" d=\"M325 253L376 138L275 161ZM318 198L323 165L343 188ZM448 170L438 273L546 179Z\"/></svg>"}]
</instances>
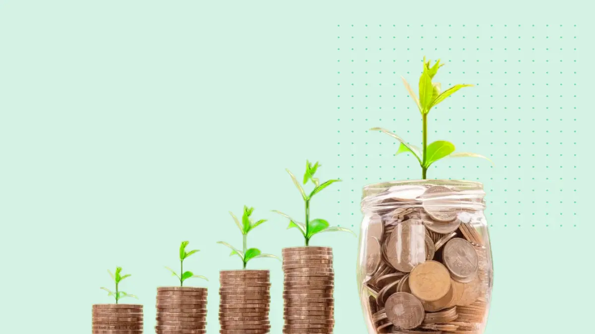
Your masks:
<instances>
[{"instance_id":1,"label":"silvery coin in jar, upper right of the golden coin","mask_svg":"<svg viewBox=\"0 0 595 334\"><path fill-rule=\"evenodd\" d=\"M477 273L478 257L475 248L462 238L454 238L444 245L444 264L456 281L465 282Z\"/></svg>"}]
</instances>

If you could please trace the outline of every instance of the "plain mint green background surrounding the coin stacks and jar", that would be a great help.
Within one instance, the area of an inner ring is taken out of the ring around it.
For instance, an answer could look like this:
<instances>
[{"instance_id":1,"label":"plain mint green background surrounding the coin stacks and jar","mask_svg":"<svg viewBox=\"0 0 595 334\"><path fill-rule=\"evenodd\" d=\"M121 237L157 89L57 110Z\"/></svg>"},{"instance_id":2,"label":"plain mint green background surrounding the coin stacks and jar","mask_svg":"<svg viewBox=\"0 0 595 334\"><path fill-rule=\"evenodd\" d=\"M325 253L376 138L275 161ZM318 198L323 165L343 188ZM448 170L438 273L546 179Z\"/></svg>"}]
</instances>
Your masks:
<instances>
[{"instance_id":1,"label":"plain mint green background surrounding the coin stacks and jar","mask_svg":"<svg viewBox=\"0 0 595 334\"><path fill-rule=\"evenodd\" d=\"M322 179L344 179L312 215L357 231L363 185L419 177L412 157L392 156L391 138L366 130L421 141L400 75L417 82L424 55L447 64L443 87L476 84L431 112L430 140L495 163L445 160L429 172L485 184L487 333L583 329L593 297L591 7L0 1L3 331L89 331L90 305L110 301L98 289L106 269L123 266L151 333L155 287L176 283L163 266L177 266L190 240L201 252L186 267L211 279L217 332L218 270L240 266L215 244L241 245L229 210L248 204L270 219L249 245L280 255L302 242L270 212L302 216L284 168L302 174L305 159L320 160ZM358 240L312 244L334 249L335 332L364 333ZM272 270L280 333L280 264L249 266Z\"/></svg>"}]
</instances>

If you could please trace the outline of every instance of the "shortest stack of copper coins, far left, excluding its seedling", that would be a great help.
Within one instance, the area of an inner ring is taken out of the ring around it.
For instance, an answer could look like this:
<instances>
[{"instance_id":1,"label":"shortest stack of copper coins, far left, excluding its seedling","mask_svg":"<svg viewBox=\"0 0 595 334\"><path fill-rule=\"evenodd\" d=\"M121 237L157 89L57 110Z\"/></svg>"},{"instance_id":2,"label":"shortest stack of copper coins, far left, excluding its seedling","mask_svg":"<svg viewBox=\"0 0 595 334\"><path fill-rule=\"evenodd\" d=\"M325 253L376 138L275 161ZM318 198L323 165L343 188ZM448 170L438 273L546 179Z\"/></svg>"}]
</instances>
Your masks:
<instances>
[{"instance_id":1,"label":"shortest stack of copper coins, far left, excluding its seedling","mask_svg":"<svg viewBox=\"0 0 595 334\"><path fill-rule=\"evenodd\" d=\"M143 305L93 305L93 334L140 334L143 332Z\"/></svg>"}]
</instances>

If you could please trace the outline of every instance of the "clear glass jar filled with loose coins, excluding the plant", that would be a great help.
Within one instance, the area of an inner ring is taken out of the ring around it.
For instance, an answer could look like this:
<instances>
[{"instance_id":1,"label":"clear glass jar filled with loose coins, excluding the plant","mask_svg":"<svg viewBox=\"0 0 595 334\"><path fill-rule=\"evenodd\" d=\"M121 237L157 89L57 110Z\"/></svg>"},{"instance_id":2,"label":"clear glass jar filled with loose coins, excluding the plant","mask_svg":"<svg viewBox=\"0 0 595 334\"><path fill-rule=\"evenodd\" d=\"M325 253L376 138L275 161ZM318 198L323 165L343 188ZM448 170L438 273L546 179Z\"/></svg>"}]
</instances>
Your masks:
<instances>
[{"instance_id":1,"label":"clear glass jar filled with loose coins, excluding the plant","mask_svg":"<svg viewBox=\"0 0 595 334\"><path fill-rule=\"evenodd\" d=\"M493 281L483 185L412 180L364 187L358 288L369 334L481 334Z\"/></svg>"}]
</instances>

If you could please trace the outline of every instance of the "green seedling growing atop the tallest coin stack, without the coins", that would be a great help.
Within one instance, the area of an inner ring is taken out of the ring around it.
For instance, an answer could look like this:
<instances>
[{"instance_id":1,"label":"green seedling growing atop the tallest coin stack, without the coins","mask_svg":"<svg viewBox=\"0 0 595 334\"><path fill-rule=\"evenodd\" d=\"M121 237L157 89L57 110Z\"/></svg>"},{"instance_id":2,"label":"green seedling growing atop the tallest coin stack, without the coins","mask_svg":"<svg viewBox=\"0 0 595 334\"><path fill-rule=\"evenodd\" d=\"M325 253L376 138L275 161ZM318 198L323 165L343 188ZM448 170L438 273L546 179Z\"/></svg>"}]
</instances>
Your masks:
<instances>
[{"instance_id":1,"label":"green seedling growing atop the tallest coin stack, without the coins","mask_svg":"<svg viewBox=\"0 0 595 334\"><path fill-rule=\"evenodd\" d=\"M285 218L289 219L289 226L287 226L287 229L297 228L297 229L299 229L300 232L302 232L303 238L305 239L306 246L309 245L310 238L312 238L315 234L318 234L320 232L340 231L340 232L350 232L353 235L355 235L355 233L353 233L353 231L351 231L350 229L342 228L339 226L328 226L327 220L324 220L324 219L310 220L310 201L312 200L312 197L314 197L315 194L320 193L322 190L324 190L324 188L328 187L329 185L333 184L334 182L341 181L339 179L330 179L326 182L320 183L320 180L318 178L314 177L314 174L316 173L317 169L320 168L320 166L321 165L318 162L315 163L314 165L312 165L311 162L306 160L306 172L303 174L303 184L304 185L307 184L308 181L312 181L312 183L314 184L314 189L311 191L311 193L309 195L306 194L306 191L302 188L302 185L300 185L300 182L297 181L296 177L292 174L292 172L290 172L289 169L286 169L287 173L289 173L290 177L293 180L293 184L296 185L297 190L299 190L300 194L302 195L303 201L305 203L306 223L300 223L297 220L291 218L290 216L286 215L283 212L273 210L273 212L276 212L279 215L284 216Z\"/></svg>"}]
</instances>

